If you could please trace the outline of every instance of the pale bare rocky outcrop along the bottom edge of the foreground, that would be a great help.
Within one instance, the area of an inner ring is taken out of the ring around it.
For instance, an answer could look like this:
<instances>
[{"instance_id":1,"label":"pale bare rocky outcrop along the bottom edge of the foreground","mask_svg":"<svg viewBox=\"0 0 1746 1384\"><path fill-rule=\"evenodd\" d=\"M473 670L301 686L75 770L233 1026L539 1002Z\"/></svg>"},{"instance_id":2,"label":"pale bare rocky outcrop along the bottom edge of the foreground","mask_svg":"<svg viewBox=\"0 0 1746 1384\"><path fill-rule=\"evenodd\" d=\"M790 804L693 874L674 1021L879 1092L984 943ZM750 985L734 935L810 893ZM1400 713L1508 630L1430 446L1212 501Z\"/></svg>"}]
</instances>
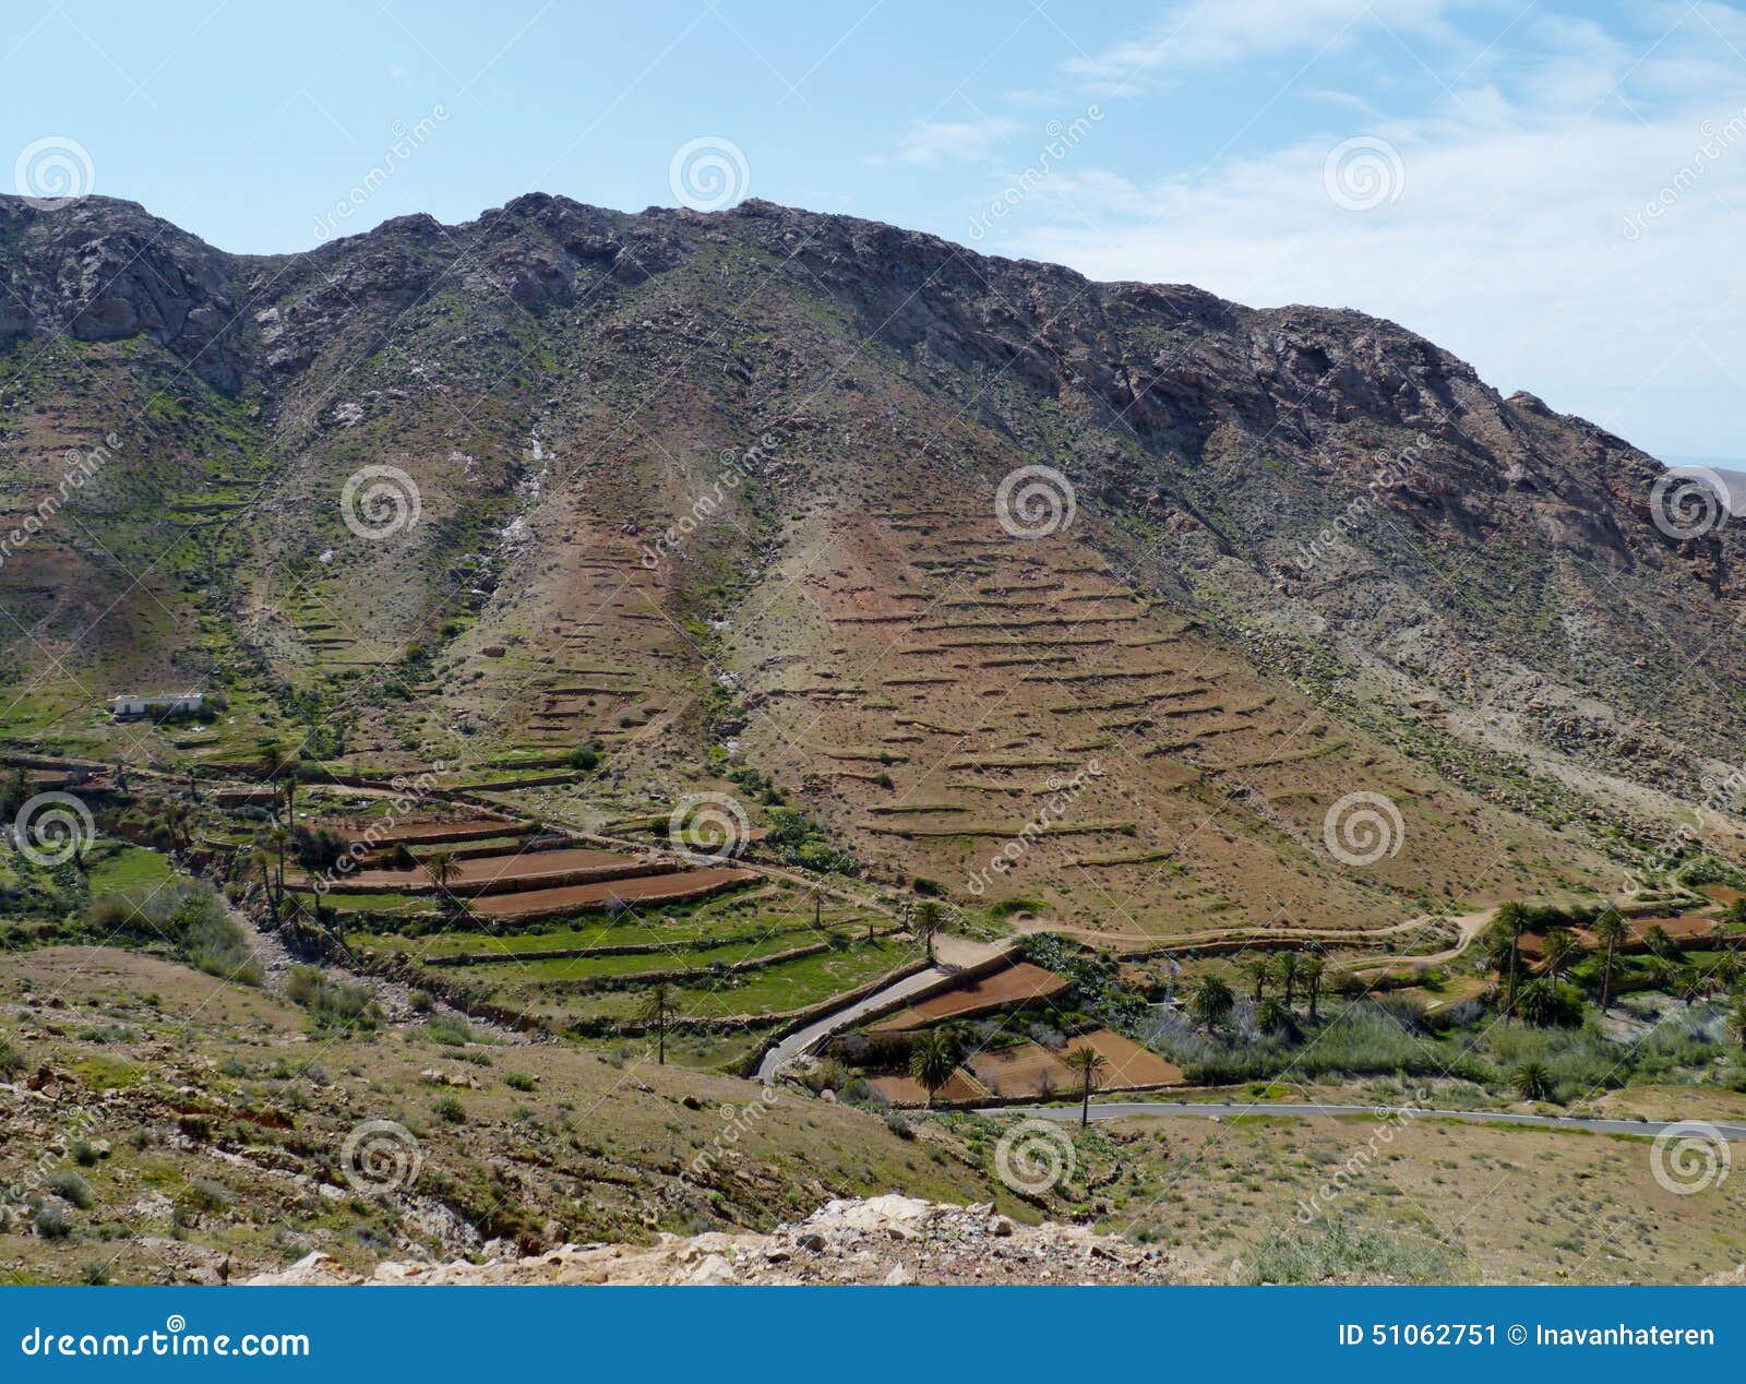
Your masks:
<instances>
[{"instance_id":1,"label":"pale bare rocky outcrop along the bottom edge of the foreground","mask_svg":"<svg viewBox=\"0 0 1746 1384\"><path fill-rule=\"evenodd\" d=\"M314 1253L251 1286L295 1284L976 1284L1182 1283L1163 1249L1069 1225L1018 1225L992 1206L883 1195L831 1201L768 1235L662 1235L655 1246L566 1244L484 1263L388 1262L368 1277Z\"/></svg>"}]
</instances>

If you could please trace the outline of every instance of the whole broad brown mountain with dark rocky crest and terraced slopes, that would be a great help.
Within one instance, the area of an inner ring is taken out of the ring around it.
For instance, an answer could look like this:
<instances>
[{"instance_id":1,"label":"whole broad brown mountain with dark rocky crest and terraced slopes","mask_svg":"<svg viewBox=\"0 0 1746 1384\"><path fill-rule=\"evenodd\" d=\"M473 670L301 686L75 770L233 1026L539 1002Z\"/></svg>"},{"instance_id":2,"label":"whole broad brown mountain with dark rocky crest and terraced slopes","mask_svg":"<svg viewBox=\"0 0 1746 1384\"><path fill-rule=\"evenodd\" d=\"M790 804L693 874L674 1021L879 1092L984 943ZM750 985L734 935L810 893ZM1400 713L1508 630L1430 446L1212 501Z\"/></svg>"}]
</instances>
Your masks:
<instances>
[{"instance_id":1,"label":"whole broad brown mountain with dark rocky crest and terraced slopes","mask_svg":"<svg viewBox=\"0 0 1746 1384\"><path fill-rule=\"evenodd\" d=\"M251 257L0 197L0 402L5 529L52 502L0 552L14 750L599 741L526 802L805 806L1124 935L1739 855L1741 524L1360 313L760 201ZM103 709L183 689L210 729Z\"/></svg>"}]
</instances>

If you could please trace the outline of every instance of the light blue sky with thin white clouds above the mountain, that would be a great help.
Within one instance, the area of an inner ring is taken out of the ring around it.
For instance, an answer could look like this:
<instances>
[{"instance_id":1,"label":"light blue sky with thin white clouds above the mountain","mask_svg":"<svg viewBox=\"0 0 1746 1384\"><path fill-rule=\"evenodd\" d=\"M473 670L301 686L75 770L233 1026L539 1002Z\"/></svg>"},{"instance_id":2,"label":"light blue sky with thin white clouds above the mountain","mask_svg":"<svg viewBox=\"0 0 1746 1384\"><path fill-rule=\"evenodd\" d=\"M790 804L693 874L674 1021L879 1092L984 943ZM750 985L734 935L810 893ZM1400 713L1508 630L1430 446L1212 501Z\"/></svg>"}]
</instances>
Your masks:
<instances>
[{"instance_id":1,"label":"light blue sky with thin white clouds above the mountain","mask_svg":"<svg viewBox=\"0 0 1746 1384\"><path fill-rule=\"evenodd\" d=\"M225 250L746 196L1392 318L1746 458L1746 5L7 0L0 190Z\"/></svg>"}]
</instances>

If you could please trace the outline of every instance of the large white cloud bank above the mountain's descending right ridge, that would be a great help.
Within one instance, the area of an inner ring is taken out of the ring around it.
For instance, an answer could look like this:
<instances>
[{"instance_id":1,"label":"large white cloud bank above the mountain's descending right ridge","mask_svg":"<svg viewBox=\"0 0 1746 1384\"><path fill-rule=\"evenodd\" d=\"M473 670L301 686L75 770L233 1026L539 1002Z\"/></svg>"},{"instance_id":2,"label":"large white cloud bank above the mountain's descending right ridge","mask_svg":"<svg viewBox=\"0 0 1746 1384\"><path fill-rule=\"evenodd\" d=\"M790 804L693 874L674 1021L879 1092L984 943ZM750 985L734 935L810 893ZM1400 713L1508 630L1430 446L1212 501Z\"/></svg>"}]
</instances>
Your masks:
<instances>
[{"instance_id":1,"label":"large white cloud bank above the mountain's descending right ridge","mask_svg":"<svg viewBox=\"0 0 1746 1384\"><path fill-rule=\"evenodd\" d=\"M1275 12L1266 0L1238 9ZM1294 42L1318 31L1303 10L1322 23L1341 10L1290 9L1297 17L1278 21ZM1416 12L1433 23L1435 9ZM1360 308L1472 360L1505 391L1531 390L1652 451L1746 456L1746 412L1732 402L1746 360L1746 122L1729 124L1746 98L1737 72L1713 68L1706 23L1666 19L1633 44L1587 21L1528 19L1510 35L1519 47L1500 44L1472 84L1411 119L1348 101L1353 114L1323 135L1193 178L1076 163L978 248L1255 306ZM1215 31L1158 63L1238 61L1219 37L1231 21L1208 23ZM1690 86L1655 94L1676 70ZM1620 82L1622 100L1610 96ZM1360 135L1399 150L1404 183L1353 211L1329 196L1323 164Z\"/></svg>"}]
</instances>

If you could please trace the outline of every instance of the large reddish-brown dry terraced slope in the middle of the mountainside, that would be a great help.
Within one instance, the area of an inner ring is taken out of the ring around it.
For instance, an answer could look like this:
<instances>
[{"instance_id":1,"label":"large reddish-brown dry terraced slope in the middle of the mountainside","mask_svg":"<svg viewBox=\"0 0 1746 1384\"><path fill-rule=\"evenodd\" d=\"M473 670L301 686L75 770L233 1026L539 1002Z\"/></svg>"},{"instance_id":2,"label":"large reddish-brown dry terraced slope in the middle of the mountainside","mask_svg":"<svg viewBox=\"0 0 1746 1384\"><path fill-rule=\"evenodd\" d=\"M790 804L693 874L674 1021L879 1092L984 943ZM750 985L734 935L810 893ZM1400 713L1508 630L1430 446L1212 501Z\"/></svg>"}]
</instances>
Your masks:
<instances>
[{"instance_id":1,"label":"large reddish-brown dry terraced slope in the middle of the mountainside","mask_svg":"<svg viewBox=\"0 0 1746 1384\"><path fill-rule=\"evenodd\" d=\"M1262 683L1083 542L863 500L791 528L772 599L728 638L746 757L807 783L868 856L969 907L1137 938L1376 928L1599 877L1571 841ZM1353 793L1400 823L1358 868L1323 835Z\"/></svg>"}]
</instances>

